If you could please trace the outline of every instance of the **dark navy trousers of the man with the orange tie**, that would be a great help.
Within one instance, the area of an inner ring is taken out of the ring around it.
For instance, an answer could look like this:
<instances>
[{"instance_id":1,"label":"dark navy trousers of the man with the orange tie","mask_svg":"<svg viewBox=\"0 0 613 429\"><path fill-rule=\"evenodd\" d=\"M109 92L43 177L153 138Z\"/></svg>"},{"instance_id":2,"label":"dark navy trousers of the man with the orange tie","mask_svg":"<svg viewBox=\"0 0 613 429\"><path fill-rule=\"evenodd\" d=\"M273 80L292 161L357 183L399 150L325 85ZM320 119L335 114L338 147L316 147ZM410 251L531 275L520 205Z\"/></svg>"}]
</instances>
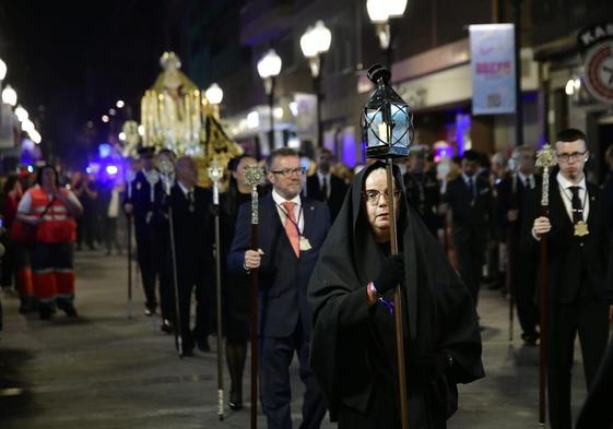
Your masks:
<instances>
[{"instance_id":1,"label":"dark navy trousers of the man with the orange tie","mask_svg":"<svg viewBox=\"0 0 613 429\"><path fill-rule=\"evenodd\" d=\"M290 365L298 355L300 380L306 386L300 429L319 429L326 415L323 395L308 364L309 338L298 323L292 335L283 338L260 337L260 400L268 429L291 429L292 388Z\"/></svg>"}]
</instances>

